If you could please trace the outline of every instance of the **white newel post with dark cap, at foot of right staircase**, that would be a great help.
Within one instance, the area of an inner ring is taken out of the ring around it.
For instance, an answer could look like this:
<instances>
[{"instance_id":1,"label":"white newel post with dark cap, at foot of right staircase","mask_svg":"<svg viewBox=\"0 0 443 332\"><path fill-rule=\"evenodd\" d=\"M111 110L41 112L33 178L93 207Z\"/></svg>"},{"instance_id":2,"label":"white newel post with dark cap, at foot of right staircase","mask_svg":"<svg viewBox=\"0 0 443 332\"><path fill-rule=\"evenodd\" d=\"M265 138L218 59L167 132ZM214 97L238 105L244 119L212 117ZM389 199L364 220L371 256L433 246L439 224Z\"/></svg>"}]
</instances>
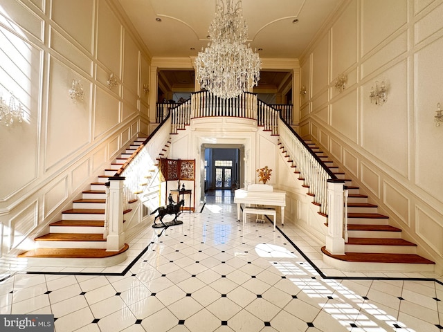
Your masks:
<instances>
[{"instance_id":1,"label":"white newel post with dark cap, at foot of right staircase","mask_svg":"<svg viewBox=\"0 0 443 332\"><path fill-rule=\"evenodd\" d=\"M327 181L327 235L326 250L332 255L345 255L343 239L343 180Z\"/></svg>"}]
</instances>

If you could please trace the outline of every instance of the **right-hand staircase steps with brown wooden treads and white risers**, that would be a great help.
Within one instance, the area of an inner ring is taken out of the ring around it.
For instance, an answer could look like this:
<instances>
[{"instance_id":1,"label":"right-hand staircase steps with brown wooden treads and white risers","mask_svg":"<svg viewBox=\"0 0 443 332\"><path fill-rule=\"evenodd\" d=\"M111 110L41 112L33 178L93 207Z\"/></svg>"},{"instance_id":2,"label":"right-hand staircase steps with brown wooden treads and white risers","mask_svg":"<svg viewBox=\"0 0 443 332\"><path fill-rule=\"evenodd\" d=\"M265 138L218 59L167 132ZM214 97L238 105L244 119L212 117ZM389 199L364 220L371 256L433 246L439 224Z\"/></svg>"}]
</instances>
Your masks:
<instances>
[{"instance_id":1,"label":"right-hand staircase steps with brown wooden treads and white risers","mask_svg":"<svg viewBox=\"0 0 443 332\"><path fill-rule=\"evenodd\" d=\"M346 178L338 166L311 140L305 140L307 146L337 176L343 179L348 188L347 218L348 241L345 243L345 255L332 255L325 247L323 255L327 261L341 261L340 266L348 270L395 270L404 272L433 272L435 262L417 255L417 245L401 238L401 229L389 224L389 217L378 212L377 205L368 203L369 198L361 194L359 187ZM293 172L300 174L291 156L280 143L282 154L291 163ZM304 180L298 176L299 180ZM309 195L309 194L308 194ZM310 194L312 196L312 194ZM314 203L315 204L315 203ZM318 212L321 214L320 212ZM321 214L327 218L325 214ZM327 220L327 219L325 219ZM327 222L325 222L327 226ZM369 265L368 265L369 264ZM388 264L390 264L388 266Z\"/></svg>"}]
</instances>

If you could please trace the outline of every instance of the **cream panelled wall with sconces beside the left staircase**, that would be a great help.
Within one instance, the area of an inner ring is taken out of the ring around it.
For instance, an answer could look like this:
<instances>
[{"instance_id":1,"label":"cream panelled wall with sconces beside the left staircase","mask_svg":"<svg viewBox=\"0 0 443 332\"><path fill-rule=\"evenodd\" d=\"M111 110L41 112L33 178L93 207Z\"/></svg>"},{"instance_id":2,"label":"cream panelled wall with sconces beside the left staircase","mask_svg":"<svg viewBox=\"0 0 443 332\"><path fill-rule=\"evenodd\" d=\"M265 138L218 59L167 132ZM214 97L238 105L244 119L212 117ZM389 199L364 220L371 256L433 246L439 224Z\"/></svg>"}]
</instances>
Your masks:
<instances>
[{"instance_id":1,"label":"cream panelled wall with sconces beside the left staircase","mask_svg":"<svg viewBox=\"0 0 443 332\"><path fill-rule=\"evenodd\" d=\"M26 111L23 123L0 124L1 255L25 249L26 236L59 219L138 131L148 133L150 59L114 6L0 3L0 91L14 91ZM110 73L118 86L107 86ZM71 100L72 80L84 100Z\"/></svg>"}]
</instances>

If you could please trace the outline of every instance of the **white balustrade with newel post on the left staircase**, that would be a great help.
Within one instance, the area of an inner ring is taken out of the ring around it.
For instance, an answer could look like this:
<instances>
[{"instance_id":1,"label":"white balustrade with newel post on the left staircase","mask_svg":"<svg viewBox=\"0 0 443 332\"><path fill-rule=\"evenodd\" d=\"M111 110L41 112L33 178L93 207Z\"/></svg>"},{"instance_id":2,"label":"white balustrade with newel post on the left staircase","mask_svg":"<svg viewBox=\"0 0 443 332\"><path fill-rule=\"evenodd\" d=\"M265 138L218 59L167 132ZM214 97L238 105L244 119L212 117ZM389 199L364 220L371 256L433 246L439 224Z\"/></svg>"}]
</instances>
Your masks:
<instances>
[{"instance_id":1,"label":"white balustrade with newel post on the left staircase","mask_svg":"<svg viewBox=\"0 0 443 332\"><path fill-rule=\"evenodd\" d=\"M104 228L108 251L118 251L123 248L125 244L123 211L127 208L128 202L138 199L137 194L141 193L141 185L145 183L150 168L156 164L156 159L168 141L170 128L171 116L167 116L116 174L109 177Z\"/></svg>"}]
</instances>

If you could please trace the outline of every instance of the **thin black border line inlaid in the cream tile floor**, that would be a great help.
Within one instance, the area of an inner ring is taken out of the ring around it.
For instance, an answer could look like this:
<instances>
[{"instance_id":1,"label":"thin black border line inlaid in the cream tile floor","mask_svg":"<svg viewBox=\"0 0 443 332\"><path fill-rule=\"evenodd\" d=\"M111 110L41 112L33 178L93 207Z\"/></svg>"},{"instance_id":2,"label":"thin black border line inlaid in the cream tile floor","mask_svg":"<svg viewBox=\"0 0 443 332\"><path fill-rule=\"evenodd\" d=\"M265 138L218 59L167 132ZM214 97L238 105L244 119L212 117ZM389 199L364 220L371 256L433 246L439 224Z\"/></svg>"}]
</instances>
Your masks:
<instances>
[{"instance_id":1,"label":"thin black border line inlaid in the cream tile floor","mask_svg":"<svg viewBox=\"0 0 443 332\"><path fill-rule=\"evenodd\" d=\"M234 203L232 203L234 204ZM206 207L206 203L203 204L203 206L201 207L201 210L199 213L202 213L204 208ZM269 223L272 223L273 225L273 221L271 221L271 219L269 218L269 216L266 216L266 219L269 221ZM167 226L165 228L163 228L163 230L160 232L160 234L157 234L157 237L161 237L161 235L163 234L163 232L165 232L165 230L167 230L170 226ZM443 281L440 281L438 279L435 278L417 278L417 277L347 277L347 276L331 276L331 275L325 275L325 273L322 272L322 270L320 270L320 268L318 268L318 266L316 266L314 264L313 261L311 261L311 259L309 259L309 257L307 257L307 255L302 252L302 250L300 250L300 248L298 248L298 246L296 245L296 243L293 243L293 241L291 239L289 239L289 237L287 236L287 234L284 234L283 230L281 230L281 228L278 225L275 225L275 229L278 230L280 232L280 234L282 234L282 236L287 239L287 241L289 242L289 244L291 244L291 246L293 246L294 249L296 249L298 251L298 253L312 266L312 268L314 268L314 270L316 270L316 273L318 273L318 275L320 275L320 277L322 279L334 279L334 280L395 280L395 281L414 281L414 282L436 282L437 284L440 284L443 286ZM154 244L154 242L150 242L145 249L143 249L140 254L138 254L137 257L134 258L134 260L129 263L129 265L120 273L96 273L96 272L44 272L44 271L24 271L24 272L17 272L15 274L28 274L28 275L102 275L102 276L114 276L114 277L123 277L124 275L126 275L128 273L128 271L132 268L132 266L134 266L137 261L139 259L141 259L141 257L143 257L143 255L145 255L145 252L147 252L147 250L150 248L150 246ZM0 283L3 282L4 280L13 277L15 274L12 275L8 275L8 277L4 277L3 279L0 280ZM313 277L315 279L315 277Z\"/></svg>"}]
</instances>

